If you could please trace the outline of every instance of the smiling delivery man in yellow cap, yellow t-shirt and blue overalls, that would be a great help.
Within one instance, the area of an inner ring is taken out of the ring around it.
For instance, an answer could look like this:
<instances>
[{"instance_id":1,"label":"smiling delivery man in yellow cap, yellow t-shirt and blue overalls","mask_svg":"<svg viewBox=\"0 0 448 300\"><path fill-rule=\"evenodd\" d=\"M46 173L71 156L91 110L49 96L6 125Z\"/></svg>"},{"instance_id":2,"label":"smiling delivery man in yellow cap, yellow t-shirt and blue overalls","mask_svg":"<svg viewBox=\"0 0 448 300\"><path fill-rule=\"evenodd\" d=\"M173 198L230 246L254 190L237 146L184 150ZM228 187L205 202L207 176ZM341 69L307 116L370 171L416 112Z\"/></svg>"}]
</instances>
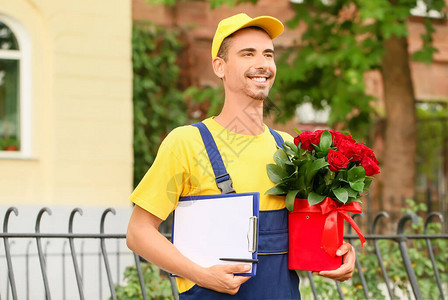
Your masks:
<instances>
[{"instance_id":1,"label":"smiling delivery man in yellow cap, yellow t-shirt and blue overalls","mask_svg":"<svg viewBox=\"0 0 448 300\"><path fill-rule=\"evenodd\" d=\"M179 275L181 299L300 298L297 275L287 265L284 197L264 194L274 185L267 176L266 164L273 162L276 141L263 123L263 101L276 74L272 39L282 31L283 24L272 17L251 19L238 14L219 23L213 39L212 64L216 76L222 79L225 101L218 116L203 121L236 192L260 193L260 241L265 234L274 243L259 243L256 276L233 275L248 271L250 266L245 264L201 267L158 232L159 224L175 209L179 197L220 193L198 128L179 127L167 136L153 166L130 197L136 206L129 222L128 246L162 269ZM292 140L286 133L280 135ZM338 255L343 256L343 265L319 275L340 281L351 277L353 247L343 244Z\"/></svg>"}]
</instances>

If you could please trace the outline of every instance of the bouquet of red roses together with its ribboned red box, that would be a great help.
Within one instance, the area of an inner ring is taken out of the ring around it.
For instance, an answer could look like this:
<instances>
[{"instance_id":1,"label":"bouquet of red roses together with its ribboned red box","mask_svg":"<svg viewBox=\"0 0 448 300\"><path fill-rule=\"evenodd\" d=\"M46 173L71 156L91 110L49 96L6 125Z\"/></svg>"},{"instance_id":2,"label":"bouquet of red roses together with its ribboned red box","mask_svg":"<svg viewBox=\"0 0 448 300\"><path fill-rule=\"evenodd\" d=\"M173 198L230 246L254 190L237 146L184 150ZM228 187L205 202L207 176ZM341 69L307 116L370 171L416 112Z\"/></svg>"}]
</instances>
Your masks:
<instances>
[{"instance_id":1,"label":"bouquet of red roses together with its ribboned red box","mask_svg":"<svg viewBox=\"0 0 448 300\"><path fill-rule=\"evenodd\" d=\"M299 133L274 154L267 165L275 186L266 194L286 196L289 210L289 268L334 270L342 245L344 220L361 242L361 230L348 214L361 213L361 195L379 173L373 151L335 130Z\"/></svg>"}]
</instances>

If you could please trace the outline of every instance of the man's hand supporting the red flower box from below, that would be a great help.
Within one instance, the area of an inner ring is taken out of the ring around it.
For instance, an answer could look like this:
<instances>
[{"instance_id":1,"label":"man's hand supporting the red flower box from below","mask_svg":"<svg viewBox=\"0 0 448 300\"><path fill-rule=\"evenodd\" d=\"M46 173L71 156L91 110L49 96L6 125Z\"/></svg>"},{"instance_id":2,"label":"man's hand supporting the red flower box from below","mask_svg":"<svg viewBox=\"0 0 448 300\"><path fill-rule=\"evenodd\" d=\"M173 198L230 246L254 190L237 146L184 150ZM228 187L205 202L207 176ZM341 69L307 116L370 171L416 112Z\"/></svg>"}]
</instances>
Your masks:
<instances>
[{"instance_id":1,"label":"man's hand supporting the red flower box from below","mask_svg":"<svg viewBox=\"0 0 448 300\"><path fill-rule=\"evenodd\" d=\"M342 265L338 269L333 271L313 272L313 274L341 282L352 278L356 261L355 248L349 243L343 243L336 252L336 255L342 256Z\"/></svg>"}]
</instances>

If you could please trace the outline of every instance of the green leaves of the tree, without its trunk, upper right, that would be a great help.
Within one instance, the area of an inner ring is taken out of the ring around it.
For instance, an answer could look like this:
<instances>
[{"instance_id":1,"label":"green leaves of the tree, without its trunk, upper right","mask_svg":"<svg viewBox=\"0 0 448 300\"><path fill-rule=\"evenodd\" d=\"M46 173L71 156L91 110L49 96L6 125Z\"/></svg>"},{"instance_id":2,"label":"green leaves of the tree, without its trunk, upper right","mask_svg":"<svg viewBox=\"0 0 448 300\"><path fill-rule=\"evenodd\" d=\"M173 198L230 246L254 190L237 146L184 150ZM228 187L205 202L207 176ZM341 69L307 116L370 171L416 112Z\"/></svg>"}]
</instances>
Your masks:
<instances>
[{"instance_id":1,"label":"green leaves of the tree, without its trunk, upper right","mask_svg":"<svg viewBox=\"0 0 448 300\"><path fill-rule=\"evenodd\" d=\"M317 109L330 106L330 124L342 123L352 132L369 125L374 99L365 92L364 74L381 68L385 39L408 35L405 21L416 6L416 1L395 2L304 0L295 5L287 24L294 28L305 22L306 30L280 61L276 99L282 119L293 115L288 108L310 102ZM428 9L443 6L443 0L428 3ZM414 57L430 62L433 29L430 21L426 25L425 46Z\"/></svg>"}]
</instances>

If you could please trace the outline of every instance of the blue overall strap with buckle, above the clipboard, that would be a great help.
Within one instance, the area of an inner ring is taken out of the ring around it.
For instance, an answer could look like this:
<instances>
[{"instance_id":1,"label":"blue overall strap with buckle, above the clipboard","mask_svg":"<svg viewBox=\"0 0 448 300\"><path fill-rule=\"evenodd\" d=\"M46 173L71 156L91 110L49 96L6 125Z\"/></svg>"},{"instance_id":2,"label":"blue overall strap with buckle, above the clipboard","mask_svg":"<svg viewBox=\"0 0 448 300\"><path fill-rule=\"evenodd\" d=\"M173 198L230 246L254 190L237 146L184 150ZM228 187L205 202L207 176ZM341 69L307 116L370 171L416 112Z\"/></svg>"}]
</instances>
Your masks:
<instances>
[{"instance_id":1,"label":"blue overall strap with buckle, above the clipboard","mask_svg":"<svg viewBox=\"0 0 448 300\"><path fill-rule=\"evenodd\" d=\"M205 150L207 150L207 155L212 164L213 173L215 173L215 181L219 190L222 194L235 193L233 189L232 179L229 173L227 173L224 162L222 161L221 154L219 153L218 147L216 146L215 140L213 139L210 130L204 123L195 123L193 126L199 129L201 133L202 141L204 142Z\"/></svg>"}]
</instances>

